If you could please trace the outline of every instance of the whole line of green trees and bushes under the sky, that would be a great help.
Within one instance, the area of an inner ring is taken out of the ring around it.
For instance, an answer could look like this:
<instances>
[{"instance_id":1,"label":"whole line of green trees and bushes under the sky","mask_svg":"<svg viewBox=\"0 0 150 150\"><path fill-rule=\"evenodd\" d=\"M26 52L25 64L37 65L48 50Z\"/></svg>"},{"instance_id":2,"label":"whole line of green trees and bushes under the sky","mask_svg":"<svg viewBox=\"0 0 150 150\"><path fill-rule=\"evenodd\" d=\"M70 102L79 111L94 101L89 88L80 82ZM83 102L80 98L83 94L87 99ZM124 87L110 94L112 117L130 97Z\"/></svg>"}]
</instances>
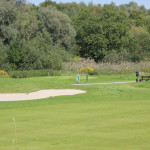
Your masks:
<instances>
[{"instance_id":1,"label":"whole line of green trees and bushes under the sky","mask_svg":"<svg viewBox=\"0 0 150 150\"><path fill-rule=\"evenodd\" d=\"M61 69L74 56L139 62L150 56L150 10L135 2L39 6L0 1L0 68Z\"/></svg>"}]
</instances>

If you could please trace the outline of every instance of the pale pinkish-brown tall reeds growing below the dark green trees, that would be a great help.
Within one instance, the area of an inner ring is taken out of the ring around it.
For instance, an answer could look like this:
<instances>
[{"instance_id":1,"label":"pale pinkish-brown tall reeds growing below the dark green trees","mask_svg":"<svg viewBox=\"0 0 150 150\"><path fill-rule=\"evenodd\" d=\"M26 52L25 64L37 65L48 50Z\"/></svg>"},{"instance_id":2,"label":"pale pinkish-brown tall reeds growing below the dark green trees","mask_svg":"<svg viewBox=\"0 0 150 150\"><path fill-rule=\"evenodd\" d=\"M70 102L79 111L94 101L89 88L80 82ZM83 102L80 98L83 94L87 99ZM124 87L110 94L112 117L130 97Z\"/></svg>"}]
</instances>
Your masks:
<instances>
[{"instance_id":1,"label":"pale pinkish-brown tall reeds growing below the dark green trees","mask_svg":"<svg viewBox=\"0 0 150 150\"><path fill-rule=\"evenodd\" d=\"M140 71L142 74L150 73L150 62L121 62L121 63L96 63L92 59L79 59L65 63L65 69L78 72L82 67L92 67L95 74L129 74Z\"/></svg>"}]
</instances>

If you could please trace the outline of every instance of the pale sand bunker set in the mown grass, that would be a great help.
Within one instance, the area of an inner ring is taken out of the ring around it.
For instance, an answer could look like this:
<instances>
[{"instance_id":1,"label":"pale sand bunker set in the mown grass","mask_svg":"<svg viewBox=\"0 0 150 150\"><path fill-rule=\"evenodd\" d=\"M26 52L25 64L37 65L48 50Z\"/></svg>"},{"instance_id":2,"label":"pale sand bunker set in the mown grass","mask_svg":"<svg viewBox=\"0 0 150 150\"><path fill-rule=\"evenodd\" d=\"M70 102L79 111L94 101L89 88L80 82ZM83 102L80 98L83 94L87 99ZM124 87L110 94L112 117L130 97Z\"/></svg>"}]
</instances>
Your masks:
<instances>
[{"instance_id":1,"label":"pale sand bunker set in the mown grass","mask_svg":"<svg viewBox=\"0 0 150 150\"><path fill-rule=\"evenodd\" d=\"M85 93L82 90L74 89L59 89L59 90L40 90L32 93L2 93L0 94L0 101L23 101L23 100L35 100L54 96L62 95L75 95Z\"/></svg>"}]
</instances>

